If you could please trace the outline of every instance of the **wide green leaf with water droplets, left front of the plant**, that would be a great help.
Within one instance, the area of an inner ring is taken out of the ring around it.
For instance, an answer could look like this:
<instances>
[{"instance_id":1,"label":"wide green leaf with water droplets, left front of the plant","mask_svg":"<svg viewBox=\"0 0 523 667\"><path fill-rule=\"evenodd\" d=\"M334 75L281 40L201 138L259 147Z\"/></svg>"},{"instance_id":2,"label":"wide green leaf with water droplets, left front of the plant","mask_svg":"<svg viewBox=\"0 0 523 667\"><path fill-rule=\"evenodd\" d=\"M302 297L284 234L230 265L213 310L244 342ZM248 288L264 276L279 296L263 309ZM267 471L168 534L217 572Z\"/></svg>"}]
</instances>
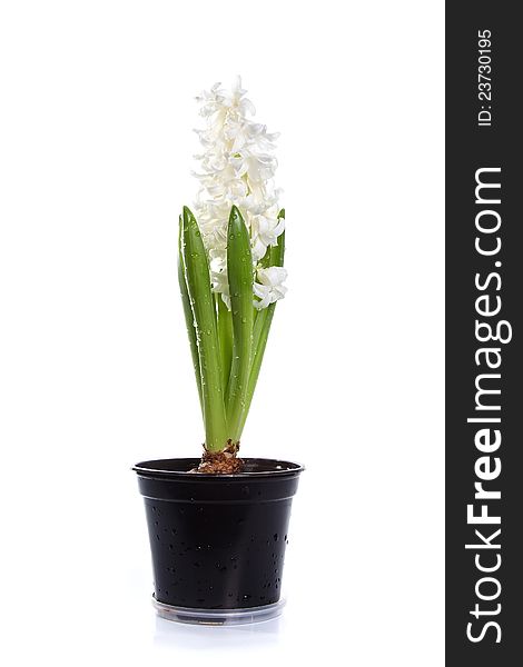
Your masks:
<instances>
[{"instance_id":1,"label":"wide green leaf with water droplets, left front of the plant","mask_svg":"<svg viewBox=\"0 0 523 667\"><path fill-rule=\"evenodd\" d=\"M220 451L227 445L227 432L218 330L215 301L210 290L209 263L198 223L187 207L184 207L182 218L181 251L187 289L196 323L206 448L209 451Z\"/></svg>"}]
</instances>

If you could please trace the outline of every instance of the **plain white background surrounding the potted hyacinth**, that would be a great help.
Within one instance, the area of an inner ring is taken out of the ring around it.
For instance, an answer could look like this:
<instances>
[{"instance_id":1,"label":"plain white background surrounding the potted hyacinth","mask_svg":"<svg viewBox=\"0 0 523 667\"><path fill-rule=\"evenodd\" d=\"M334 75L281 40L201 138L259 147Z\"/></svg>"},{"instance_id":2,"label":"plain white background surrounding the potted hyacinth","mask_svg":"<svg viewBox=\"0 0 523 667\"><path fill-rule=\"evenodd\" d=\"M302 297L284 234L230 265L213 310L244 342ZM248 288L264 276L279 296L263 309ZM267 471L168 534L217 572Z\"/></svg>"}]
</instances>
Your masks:
<instances>
[{"instance_id":1,"label":"plain white background surrounding the potted hyacinth","mask_svg":"<svg viewBox=\"0 0 523 667\"><path fill-rule=\"evenodd\" d=\"M442 665L443 2L0 7L3 664ZM237 73L289 271L243 454L307 470L284 617L190 628L130 466L203 440L177 216Z\"/></svg>"}]
</instances>

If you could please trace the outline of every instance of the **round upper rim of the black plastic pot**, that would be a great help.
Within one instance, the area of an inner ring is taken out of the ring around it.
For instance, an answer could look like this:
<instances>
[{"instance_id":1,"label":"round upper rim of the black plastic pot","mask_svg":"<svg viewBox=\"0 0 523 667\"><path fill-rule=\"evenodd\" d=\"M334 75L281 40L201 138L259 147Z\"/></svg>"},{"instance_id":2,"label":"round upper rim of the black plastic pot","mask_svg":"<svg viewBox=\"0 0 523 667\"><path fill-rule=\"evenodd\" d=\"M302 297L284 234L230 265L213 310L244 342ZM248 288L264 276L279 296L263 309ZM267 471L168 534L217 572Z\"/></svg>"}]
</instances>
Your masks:
<instances>
[{"instance_id":1,"label":"round upper rim of the black plastic pot","mask_svg":"<svg viewBox=\"0 0 523 667\"><path fill-rule=\"evenodd\" d=\"M195 472L190 472L190 469L196 467L200 459L195 457L179 457L179 458L169 458L169 459L151 459L146 461L139 461L135 466L132 466L132 470L137 472L141 477L151 478L160 478L160 479L185 479L190 481L213 481L217 479L223 480L231 480L231 479L267 479L267 478L280 478L280 477L296 477L300 472L305 470L305 466L302 464L296 464L293 461L284 461L279 459L266 459L266 458L253 458L247 457L241 459L245 461L247 466L256 466L260 465L263 468L272 467L270 469L260 469L260 470L245 470L243 472L231 472L231 474L218 474L218 475L195 475ZM176 462L180 464L180 467L187 469L172 469L169 467L165 467L166 464L176 465Z\"/></svg>"}]
</instances>

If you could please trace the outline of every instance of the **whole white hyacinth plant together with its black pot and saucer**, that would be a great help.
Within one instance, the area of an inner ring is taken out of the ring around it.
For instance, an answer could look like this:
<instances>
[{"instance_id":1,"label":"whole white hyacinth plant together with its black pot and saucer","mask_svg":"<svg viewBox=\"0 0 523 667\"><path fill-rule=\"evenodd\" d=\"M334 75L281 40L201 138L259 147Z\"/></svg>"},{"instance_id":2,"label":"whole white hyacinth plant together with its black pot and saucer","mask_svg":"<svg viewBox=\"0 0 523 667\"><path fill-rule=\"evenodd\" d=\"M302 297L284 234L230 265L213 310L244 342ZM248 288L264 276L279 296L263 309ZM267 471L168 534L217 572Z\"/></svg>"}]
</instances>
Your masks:
<instances>
[{"instance_id":1,"label":"whole white hyacinth plant together with its black pot and saucer","mask_svg":"<svg viewBox=\"0 0 523 667\"><path fill-rule=\"evenodd\" d=\"M200 190L179 219L178 277L205 425L201 459L135 466L160 616L245 623L279 613L290 504L303 467L239 458L276 307L284 297L285 211L276 135L253 122L238 79L197 98Z\"/></svg>"}]
</instances>

